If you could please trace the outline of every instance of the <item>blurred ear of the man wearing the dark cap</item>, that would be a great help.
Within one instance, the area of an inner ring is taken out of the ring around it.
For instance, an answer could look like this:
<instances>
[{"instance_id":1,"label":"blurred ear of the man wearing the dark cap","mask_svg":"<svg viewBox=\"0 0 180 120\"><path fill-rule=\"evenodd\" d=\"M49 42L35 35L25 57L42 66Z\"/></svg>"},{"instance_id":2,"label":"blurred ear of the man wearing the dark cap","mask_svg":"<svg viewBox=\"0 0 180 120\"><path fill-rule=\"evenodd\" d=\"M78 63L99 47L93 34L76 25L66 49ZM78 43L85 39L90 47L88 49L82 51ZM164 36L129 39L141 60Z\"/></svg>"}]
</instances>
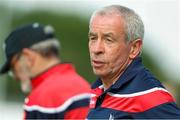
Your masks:
<instances>
[{"instance_id":1,"label":"blurred ear of the man wearing the dark cap","mask_svg":"<svg viewBox=\"0 0 180 120\"><path fill-rule=\"evenodd\" d=\"M26 63L29 65L29 66L33 66L34 63L35 63L35 59L36 59L36 54L33 50L31 49L28 49L28 48L24 48L22 50L22 53L23 55L25 56L25 59L26 59Z\"/></svg>"}]
</instances>

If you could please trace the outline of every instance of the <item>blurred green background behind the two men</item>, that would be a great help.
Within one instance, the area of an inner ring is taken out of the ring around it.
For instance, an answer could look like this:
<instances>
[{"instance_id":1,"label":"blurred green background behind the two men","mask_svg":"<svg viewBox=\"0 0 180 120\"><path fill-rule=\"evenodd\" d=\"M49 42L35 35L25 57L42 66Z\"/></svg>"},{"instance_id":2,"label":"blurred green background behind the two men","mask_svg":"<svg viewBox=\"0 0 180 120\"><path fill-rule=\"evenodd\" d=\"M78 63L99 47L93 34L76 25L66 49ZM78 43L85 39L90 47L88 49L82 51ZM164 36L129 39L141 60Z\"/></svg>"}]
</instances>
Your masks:
<instances>
[{"instance_id":1,"label":"blurred green background behind the two men","mask_svg":"<svg viewBox=\"0 0 180 120\"><path fill-rule=\"evenodd\" d=\"M48 10L30 10L27 12L13 9L12 11L9 7L0 5L0 64L2 65L3 61L5 61L2 51L3 41L16 26L33 22L44 25L50 24L55 28L56 37L60 40L60 57L63 62L73 63L78 73L87 79L89 83L92 83L96 80L96 76L93 75L88 52L89 18L90 16L83 17L73 13L57 13ZM178 80L169 81L171 77L162 72L159 65L151 58L145 48L142 57L144 65L164 83L180 105L177 92L179 83L175 82ZM26 95L20 91L18 82L7 75L1 76L0 79L0 101L22 103Z\"/></svg>"}]
</instances>

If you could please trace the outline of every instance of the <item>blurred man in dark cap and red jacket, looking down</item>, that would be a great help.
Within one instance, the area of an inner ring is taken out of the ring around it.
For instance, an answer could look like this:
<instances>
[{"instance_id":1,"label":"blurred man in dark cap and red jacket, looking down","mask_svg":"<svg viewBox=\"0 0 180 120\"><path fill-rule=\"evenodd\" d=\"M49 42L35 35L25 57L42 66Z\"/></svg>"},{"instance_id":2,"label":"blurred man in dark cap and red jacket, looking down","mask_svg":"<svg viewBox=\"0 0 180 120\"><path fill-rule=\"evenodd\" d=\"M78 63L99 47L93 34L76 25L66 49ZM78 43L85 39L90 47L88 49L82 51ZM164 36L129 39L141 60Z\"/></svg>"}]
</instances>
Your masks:
<instances>
[{"instance_id":1,"label":"blurred man in dark cap and red jacket, looking down","mask_svg":"<svg viewBox=\"0 0 180 120\"><path fill-rule=\"evenodd\" d=\"M38 23L15 29L5 40L6 62L21 83L25 119L83 119L89 110L89 84L71 64L61 63L52 26Z\"/></svg>"}]
</instances>

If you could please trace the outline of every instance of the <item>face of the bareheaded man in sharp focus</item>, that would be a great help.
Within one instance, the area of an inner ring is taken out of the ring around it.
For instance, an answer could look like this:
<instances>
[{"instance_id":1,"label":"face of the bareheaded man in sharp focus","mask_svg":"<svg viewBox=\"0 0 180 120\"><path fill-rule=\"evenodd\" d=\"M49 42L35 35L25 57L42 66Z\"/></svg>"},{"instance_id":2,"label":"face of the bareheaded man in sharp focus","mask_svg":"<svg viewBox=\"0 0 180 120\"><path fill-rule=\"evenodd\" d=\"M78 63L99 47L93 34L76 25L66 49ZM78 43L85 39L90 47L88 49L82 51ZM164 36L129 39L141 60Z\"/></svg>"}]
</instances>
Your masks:
<instances>
[{"instance_id":1,"label":"face of the bareheaded man in sharp focus","mask_svg":"<svg viewBox=\"0 0 180 120\"><path fill-rule=\"evenodd\" d=\"M96 15L90 23L89 52L96 75L109 77L129 63L130 44L125 40L124 22L118 15Z\"/></svg>"}]
</instances>

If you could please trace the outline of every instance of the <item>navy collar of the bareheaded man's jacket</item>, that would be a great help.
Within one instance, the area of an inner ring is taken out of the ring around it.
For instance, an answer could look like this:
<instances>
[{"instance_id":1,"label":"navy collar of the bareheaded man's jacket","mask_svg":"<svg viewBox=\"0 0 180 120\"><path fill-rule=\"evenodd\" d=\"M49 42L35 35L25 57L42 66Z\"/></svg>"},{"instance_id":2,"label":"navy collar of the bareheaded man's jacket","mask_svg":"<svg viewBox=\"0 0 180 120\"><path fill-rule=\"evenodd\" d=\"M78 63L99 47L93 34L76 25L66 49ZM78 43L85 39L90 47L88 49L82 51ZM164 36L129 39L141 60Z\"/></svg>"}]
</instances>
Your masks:
<instances>
[{"instance_id":1,"label":"navy collar of the bareheaded man's jacket","mask_svg":"<svg viewBox=\"0 0 180 120\"><path fill-rule=\"evenodd\" d=\"M112 89L119 89L123 84L129 82L139 72L139 70L143 68L144 66L142 65L141 57L135 58L119 79L108 89L108 91ZM102 81L98 78L91 88L95 89L100 85L102 85Z\"/></svg>"}]
</instances>

